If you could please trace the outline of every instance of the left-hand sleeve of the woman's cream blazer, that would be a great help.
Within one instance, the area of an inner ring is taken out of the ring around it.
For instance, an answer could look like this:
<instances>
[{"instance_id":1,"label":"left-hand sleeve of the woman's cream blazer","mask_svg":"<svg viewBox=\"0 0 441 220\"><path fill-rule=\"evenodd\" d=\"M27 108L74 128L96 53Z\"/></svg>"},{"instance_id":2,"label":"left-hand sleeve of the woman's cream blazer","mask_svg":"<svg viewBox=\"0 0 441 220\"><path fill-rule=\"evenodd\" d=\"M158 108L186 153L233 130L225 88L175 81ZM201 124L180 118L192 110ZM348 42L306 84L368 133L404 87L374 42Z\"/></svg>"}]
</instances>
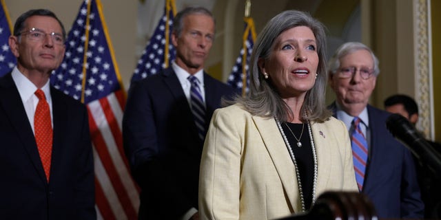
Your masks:
<instances>
[{"instance_id":1,"label":"left-hand sleeve of the woman's cream blazer","mask_svg":"<svg viewBox=\"0 0 441 220\"><path fill-rule=\"evenodd\" d=\"M245 122L220 110L214 112L201 159L201 219L239 219L240 155Z\"/></svg>"}]
</instances>

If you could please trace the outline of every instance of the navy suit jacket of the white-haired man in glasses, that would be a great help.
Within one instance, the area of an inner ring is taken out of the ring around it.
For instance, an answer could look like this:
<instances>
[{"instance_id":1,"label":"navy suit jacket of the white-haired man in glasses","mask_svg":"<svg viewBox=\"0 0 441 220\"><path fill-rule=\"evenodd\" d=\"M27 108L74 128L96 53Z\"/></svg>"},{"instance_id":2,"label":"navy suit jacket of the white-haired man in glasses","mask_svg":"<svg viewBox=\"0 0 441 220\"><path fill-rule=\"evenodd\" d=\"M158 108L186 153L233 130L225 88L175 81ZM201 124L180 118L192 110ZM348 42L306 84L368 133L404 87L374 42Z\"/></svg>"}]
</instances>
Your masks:
<instances>
[{"instance_id":1,"label":"navy suit jacket of the white-haired man in glasses","mask_svg":"<svg viewBox=\"0 0 441 220\"><path fill-rule=\"evenodd\" d=\"M336 117L336 104L331 105ZM371 145L362 192L380 218L422 218L424 204L411 152L386 128L390 113L367 106Z\"/></svg>"}]
</instances>

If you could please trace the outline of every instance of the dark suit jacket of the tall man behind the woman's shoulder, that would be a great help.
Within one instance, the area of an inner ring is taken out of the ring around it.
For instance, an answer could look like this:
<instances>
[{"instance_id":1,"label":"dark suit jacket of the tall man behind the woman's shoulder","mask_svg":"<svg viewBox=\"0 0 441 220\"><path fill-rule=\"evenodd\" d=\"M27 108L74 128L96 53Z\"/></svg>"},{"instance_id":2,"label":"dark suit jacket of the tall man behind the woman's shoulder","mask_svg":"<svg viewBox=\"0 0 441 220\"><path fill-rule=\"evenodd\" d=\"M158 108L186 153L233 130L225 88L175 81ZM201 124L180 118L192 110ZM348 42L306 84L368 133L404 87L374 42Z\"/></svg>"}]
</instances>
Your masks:
<instances>
[{"instance_id":1,"label":"dark suit jacket of the tall man behind the woman's shoulder","mask_svg":"<svg viewBox=\"0 0 441 220\"><path fill-rule=\"evenodd\" d=\"M233 89L204 73L205 129L222 96ZM132 85L123 117L132 175L141 186L139 219L177 219L198 208L203 142L172 68Z\"/></svg>"}]
</instances>

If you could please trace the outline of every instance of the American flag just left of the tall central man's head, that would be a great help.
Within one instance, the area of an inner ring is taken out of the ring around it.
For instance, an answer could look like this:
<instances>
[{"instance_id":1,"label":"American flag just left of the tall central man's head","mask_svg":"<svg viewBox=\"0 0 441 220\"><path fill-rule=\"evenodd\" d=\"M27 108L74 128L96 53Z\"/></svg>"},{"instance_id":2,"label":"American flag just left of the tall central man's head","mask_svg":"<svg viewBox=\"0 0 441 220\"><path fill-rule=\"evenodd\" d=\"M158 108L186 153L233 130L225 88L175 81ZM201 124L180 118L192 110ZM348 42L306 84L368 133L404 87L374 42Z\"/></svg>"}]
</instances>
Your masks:
<instances>
[{"instance_id":1,"label":"American flag just left of the tall central man's head","mask_svg":"<svg viewBox=\"0 0 441 220\"><path fill-rule=\"evenodd\" d=\"M164 14L159 20L150 42L139 58L138 65L132 76L132 83L152 74L157 74L170 66L176 57L176 51L171 43L172 25L176 6L174 0L166 0Z\"/></svg>"}]
</instances>

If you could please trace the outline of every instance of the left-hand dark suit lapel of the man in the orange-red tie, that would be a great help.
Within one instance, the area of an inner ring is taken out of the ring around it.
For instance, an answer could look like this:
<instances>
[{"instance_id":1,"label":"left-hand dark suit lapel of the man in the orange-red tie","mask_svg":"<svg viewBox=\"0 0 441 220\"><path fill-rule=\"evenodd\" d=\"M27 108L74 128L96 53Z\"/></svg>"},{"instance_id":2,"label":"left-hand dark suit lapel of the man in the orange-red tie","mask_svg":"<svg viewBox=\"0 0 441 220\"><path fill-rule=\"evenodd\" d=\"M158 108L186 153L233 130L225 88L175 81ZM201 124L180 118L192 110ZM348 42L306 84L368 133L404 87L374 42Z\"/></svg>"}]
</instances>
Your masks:
<instances>
[{"instance_id":1,"label":"left-hand dark suit lapel of the man in the orange-red tie","mask_svg":"<svg viewBox=\"0 0 441 220\"><path fill-rule=\"evenodd\" d=\"M13 129L19 135L21 146L25 148L25 152L28 154L32 164L34 164L35 170L39 173L41 180L46 182L43 164L41 164L34 133L32 132L32 128L23 107L23 102L21 102L19 91L14 84L14 80L12 80L11 74L3 77L0 87L1 107L5 110L7 117L10 119Z\"/></svg>"}]
</instances>

